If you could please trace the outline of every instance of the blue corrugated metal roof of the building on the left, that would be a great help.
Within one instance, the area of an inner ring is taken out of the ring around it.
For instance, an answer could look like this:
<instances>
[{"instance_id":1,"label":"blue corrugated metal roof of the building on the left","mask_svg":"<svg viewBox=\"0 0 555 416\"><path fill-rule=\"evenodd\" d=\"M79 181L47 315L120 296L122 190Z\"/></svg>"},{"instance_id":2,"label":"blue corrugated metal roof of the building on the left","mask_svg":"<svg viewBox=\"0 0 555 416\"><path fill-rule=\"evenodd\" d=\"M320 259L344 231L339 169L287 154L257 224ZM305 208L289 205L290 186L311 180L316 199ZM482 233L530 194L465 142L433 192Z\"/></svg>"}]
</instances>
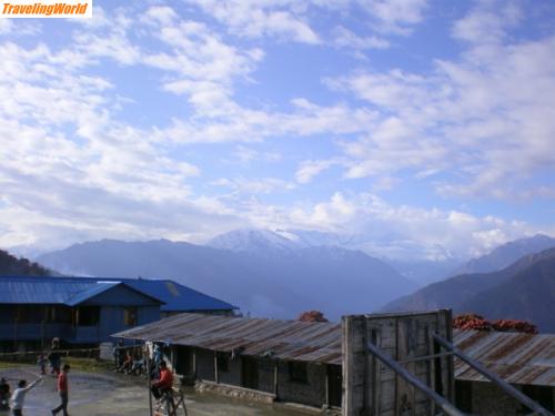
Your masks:
<instances>
[{"instance_id":1,"label":"blue corrugated metal roof of the building on the left","mask_svg":"<svg viewBox=\"0 0 555 416\"><path fill-rule=\"evenodd\" d=\"M0 304L67 304L84 302L114 284L160 300L162 312L230 311L226 302L208 296L169 280L115 277L32 277L0 276Z\"/></svg>"}]
</instances>

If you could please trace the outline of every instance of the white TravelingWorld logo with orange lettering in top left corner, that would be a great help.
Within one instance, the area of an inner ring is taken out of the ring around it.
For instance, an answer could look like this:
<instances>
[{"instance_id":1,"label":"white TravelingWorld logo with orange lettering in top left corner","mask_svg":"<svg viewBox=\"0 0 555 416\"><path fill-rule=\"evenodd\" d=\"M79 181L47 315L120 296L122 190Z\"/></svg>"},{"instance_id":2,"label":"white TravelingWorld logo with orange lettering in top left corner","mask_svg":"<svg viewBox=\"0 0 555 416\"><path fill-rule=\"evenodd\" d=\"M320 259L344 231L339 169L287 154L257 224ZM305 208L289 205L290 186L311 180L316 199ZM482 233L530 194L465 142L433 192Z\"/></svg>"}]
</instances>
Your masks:
<instances>
[{"instance_id":1,"label":"white TravelingWorld logo with orange lettering in top left corner","mask_svg":"<svg viewBox=\"0 0 555 416\"><path fill-rule=\"evenodd\" d=\"M12 0L0 8L0 18L92 18L92 0Z\"/></svg>"}]
</instances>

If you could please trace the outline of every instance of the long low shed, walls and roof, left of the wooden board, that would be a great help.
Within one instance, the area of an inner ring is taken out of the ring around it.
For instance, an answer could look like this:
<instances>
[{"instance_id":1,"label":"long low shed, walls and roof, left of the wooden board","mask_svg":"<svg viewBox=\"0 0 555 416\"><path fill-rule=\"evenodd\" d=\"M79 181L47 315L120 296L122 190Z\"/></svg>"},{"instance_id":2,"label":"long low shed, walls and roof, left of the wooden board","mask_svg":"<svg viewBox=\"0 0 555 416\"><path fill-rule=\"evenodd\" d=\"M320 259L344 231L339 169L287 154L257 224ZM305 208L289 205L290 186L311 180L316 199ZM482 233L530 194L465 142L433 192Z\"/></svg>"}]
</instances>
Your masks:
<instances>
[{"instance_id":1,"label":"long low shed, walls and roof, left of the wooden board","mask_svg":"<svg viewBox=\"0 0 555 416\"><path fill-rule=\"evenodd\" d=\"M174 371L186 378L341 406L340 324L185 313L114 336L169 345Z\"/></svg>"}]
</instances>

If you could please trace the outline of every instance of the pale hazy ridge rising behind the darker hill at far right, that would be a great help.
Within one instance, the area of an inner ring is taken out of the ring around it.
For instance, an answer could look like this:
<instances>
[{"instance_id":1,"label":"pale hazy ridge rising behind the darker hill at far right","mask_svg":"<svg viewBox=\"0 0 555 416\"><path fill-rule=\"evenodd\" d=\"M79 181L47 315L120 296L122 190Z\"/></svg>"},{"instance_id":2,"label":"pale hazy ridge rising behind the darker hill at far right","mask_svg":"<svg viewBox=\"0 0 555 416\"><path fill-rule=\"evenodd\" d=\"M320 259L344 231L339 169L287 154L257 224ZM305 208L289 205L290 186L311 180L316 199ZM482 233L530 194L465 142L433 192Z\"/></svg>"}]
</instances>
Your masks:
<instances>
[{"instance_id":1,"label":"pale hazy ridge rising behind the darker hill at far right","mask_svg":"<svg viewBox=\"0 0 555 416\"><path fill-rule=\"evenodd\" d=\"M552 247L555 247L555 239L543 234L515 240L500 245L482 257L468 261L451 275L495 272L507 267L525 255L539 253Z\"/></svg>"}]
</instances>

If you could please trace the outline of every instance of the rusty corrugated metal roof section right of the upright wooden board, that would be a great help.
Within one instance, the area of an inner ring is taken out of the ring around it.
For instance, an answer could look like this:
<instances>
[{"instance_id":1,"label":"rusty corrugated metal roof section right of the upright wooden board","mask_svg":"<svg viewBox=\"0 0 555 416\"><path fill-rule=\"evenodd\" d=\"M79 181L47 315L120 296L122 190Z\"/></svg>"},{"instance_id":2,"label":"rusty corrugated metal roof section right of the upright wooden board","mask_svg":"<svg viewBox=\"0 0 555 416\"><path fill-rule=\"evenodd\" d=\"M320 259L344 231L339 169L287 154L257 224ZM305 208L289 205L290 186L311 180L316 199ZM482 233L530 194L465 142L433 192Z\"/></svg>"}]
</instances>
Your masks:
<instances>
[{"instance_id":1,"label":"rusty corrugated metal roof section right of the upright wooden board","mask_svg":"<svg viewBox=\"0 0 555 416\"><path fill-rule=\"evenodd\" d=\"M555 386L555 335L455 331L454 344L512 384ZM455 378L487 382L455 358Z\"/></svg>"}]
</instances>

